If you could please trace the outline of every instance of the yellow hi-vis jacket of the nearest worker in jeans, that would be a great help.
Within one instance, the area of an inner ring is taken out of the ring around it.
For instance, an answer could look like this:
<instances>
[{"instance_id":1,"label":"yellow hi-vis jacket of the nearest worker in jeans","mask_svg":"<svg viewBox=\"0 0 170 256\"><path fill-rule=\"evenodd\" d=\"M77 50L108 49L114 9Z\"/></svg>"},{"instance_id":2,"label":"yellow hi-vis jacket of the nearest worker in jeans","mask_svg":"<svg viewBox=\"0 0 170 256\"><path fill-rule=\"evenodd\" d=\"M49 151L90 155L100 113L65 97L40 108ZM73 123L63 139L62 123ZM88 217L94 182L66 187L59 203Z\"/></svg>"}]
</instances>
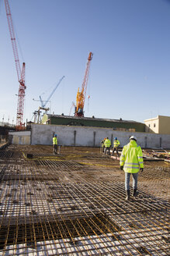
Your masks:
<instances>
[{"instance_id":1,"label":"yellow hi-vis jacket of the nearest worker in jeans","mask_svg":"<svg viewBox=\"0 0 170 256\"><path fill-rule=\"evenodd\" d=\"M123 166L125 172L136 173L140 168L144 168L142 150L135 140L123 147L120 156L120 166Z\"/></svg>"}]
</instances>

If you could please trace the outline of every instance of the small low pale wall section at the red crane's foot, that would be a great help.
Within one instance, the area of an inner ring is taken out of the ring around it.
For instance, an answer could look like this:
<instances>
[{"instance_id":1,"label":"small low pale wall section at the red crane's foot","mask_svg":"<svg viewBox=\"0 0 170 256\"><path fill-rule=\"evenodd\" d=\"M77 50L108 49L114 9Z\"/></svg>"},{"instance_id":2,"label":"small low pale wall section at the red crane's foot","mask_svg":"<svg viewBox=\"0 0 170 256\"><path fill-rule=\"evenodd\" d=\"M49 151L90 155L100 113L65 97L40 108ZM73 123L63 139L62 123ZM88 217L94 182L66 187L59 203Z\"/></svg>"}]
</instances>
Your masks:
<instances>
[{"instance_id":1,"label":"small low pale wall section at the red crane's foot","mask_svg":"<svg viewBox=\"0 0 170 256\"><path fill-rule=\"evenodd\" d=\"M29 130L9 132L9 141L12 144L29 145L31 132Z\"/></svg>"}]
</instances>

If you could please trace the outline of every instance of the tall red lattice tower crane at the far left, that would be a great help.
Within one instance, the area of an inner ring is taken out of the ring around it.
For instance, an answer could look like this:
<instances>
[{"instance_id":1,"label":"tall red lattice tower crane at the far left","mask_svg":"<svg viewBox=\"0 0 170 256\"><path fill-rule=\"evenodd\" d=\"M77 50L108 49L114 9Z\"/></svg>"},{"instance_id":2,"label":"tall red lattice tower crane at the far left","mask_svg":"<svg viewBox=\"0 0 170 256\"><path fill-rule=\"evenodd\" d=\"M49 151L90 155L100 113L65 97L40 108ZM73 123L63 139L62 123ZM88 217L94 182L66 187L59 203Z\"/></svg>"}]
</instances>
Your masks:
<instances>
[{"instance_id":1,"label":"tall red lattice tower crane at the far left","mask_svg":"<svg viewBox=\"0 0 170 256\"><path fill-rule=\"evenodd\" d=\"M13 23L12 23L12 15L9 7L9 1L5 0L5 10L6 16L9 24L9 34L12 42L12 49L14 54L14 59L16 63L16 72L19 80L19 94L18 94L18 105L17 105L17 113L16 113L16 130L24 130L23 124L23 106L24 106L24 97L26 91L25 85L25 63L23 62L23 67L21 69L19 64L19 54L16 45L16 37L14 33Z\"/></svg>"}]
</instances>

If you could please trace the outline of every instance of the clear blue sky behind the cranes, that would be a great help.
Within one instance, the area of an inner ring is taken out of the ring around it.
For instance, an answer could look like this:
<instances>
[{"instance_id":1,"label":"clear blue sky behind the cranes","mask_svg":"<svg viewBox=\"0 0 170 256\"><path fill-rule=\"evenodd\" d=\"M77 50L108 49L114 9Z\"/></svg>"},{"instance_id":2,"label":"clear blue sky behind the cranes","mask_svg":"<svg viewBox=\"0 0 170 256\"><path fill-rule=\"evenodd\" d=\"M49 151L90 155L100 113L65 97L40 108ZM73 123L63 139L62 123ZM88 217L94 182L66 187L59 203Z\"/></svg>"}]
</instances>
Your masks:
<instances>
[{"instance_id":1,"label":"clear blue sky behind the cranes","mask_svg":"<svg viewBox=\"0 0 170 256\"><path fill-rule=\"evenodd\" d=\"M170 116L169 0L9 0L9 5L19 59L26 62L24 121L40 105L33 98L47 99L61 76L51 112L69 114L89 52L85 116L142 123ZM0 34L0 122L4 116L16 123L19 83L3 0Z\"/></svg>"}]
</instances>

